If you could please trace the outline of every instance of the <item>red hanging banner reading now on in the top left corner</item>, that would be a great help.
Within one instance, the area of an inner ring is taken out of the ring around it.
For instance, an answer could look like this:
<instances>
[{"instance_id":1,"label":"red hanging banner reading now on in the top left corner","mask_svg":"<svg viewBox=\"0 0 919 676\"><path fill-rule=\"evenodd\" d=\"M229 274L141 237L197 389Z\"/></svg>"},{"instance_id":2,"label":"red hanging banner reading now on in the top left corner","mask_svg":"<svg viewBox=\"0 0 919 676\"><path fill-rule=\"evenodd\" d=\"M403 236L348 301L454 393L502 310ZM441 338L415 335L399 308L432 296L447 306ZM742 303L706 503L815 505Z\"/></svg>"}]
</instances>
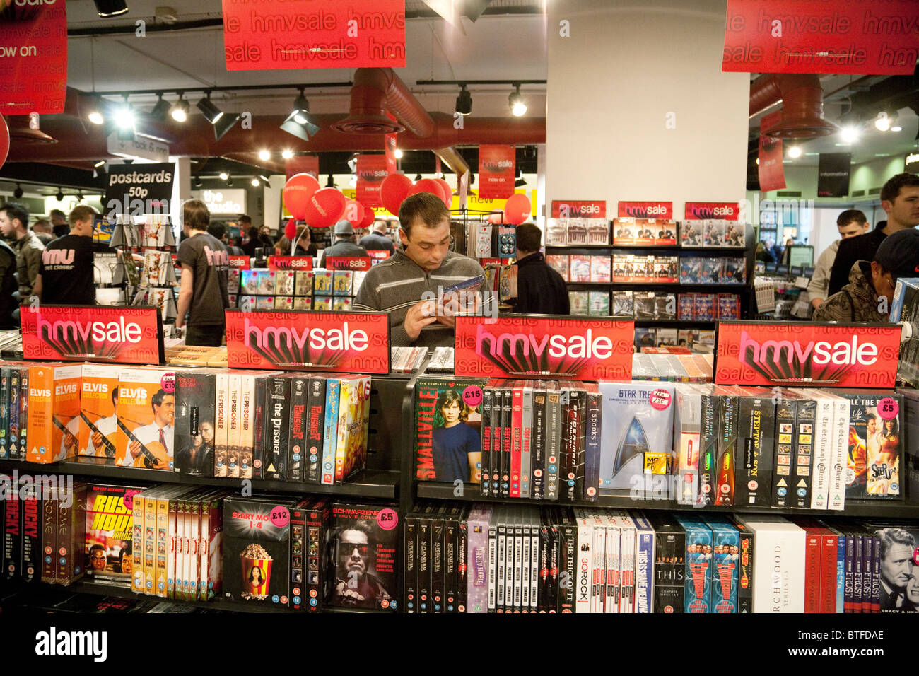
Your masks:
<instances>
[{"instance_id":1,"label":"red hanging banner reading now on in the top left corner","mask_svg":"<svg viewBox=\"0 0 919 676\"><path fill-rule=\"evenodd\" d=\"M62 113L67 97L63 1L0 2L0 115Z\"/></svg>"}]
</instances>

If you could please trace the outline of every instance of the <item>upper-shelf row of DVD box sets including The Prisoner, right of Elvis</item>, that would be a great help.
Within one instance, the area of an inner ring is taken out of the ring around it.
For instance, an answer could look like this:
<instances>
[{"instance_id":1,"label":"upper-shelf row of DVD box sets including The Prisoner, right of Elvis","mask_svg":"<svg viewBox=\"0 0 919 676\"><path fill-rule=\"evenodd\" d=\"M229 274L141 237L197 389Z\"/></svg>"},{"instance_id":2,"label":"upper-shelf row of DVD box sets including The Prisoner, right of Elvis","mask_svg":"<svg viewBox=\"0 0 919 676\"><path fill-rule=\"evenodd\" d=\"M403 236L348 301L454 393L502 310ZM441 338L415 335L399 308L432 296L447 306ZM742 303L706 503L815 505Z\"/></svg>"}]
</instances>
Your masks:
<instances>
[{"instance_id":1,"label":"upper-shelf row of DVD box sets including The Prisoner, right of Elvis","mask_svg":"<svg viewBox=\"0 0 919 676\"><path fill-rule=\"evenodd\" d=\"M176 471L345 481L367 465L369 398L367 375L179 371Z\"/></svg>"}]
</instances>

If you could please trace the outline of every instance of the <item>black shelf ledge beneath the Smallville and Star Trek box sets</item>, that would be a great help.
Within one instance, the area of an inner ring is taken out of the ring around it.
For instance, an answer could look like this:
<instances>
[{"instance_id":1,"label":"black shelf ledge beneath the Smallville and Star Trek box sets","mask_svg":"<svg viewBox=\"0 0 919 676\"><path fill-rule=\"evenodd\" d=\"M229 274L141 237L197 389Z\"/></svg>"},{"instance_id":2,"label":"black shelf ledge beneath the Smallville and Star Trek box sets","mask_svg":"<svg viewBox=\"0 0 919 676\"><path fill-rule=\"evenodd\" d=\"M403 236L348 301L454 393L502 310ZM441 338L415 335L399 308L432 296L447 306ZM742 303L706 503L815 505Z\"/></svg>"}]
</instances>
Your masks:
<instances>
[{"instance_id":1,"label":"black shelf ledge beneath the Smallville and Star Trek box sets","mask_svg":"<svg viewBox=\"0 0 919 676\"><path fill-rule=\"evenodd\" d=\"M618 510L666 510L686 511L693 514L717 513L755 513L781 514L795 516L846 516L846 517L885 517L898 519L919 519L919 504L900 501L858 500L845 501L845 510L806 510L799 508L756 507L750 505L732 505L730 507L709 506L694 509L670 499L633 499L629 497L611 497L601 495L590 500L537 500L532 498L508 498L506 496L482 496L479 487L471 484L464 487L462 494L453 484L419 481L415 482L415 493L419 499L434 498L444 500L463 500L469 502L499 502L507 505L527 505L543 507L588 507Z\"/></svg>"}]
</instances>

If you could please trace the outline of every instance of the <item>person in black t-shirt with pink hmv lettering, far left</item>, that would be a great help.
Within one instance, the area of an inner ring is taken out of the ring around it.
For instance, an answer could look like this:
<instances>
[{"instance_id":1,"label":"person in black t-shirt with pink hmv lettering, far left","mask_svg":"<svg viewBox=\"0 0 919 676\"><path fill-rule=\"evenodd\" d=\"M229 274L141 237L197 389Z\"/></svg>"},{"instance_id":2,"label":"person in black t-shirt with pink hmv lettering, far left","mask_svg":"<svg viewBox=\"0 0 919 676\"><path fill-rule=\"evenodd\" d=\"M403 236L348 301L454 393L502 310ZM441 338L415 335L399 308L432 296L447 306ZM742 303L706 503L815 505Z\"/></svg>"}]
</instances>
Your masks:
<instances>
[{"instance_id":1,"label":"person in black t-shirt with pink hmv lettering, far left","mask_svg":"<svg viewBox=\"0 0 919 676\"><path fill-rule=\"evenodd\" d=\"M41 252L39 276L32 293L49 305L95 305L93 285L93 222L96 212L76 206L70 212L70 235L63 235Z\"/></svg>"}]
</instances>

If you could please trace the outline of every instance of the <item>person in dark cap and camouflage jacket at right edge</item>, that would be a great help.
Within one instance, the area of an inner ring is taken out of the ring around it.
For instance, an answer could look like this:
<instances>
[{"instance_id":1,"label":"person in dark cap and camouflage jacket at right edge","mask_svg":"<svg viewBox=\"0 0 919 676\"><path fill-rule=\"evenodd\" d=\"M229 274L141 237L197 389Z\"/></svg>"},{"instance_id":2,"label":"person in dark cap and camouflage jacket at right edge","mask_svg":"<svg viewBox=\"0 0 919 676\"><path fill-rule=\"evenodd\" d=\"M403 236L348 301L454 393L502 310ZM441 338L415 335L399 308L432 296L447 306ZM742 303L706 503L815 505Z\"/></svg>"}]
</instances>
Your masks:
<instances>
[{"instance_id":1,"label":"person in dark cap and camouflage jacket at right edge","mask_svg":"<svg viewBox=\"0 0 919 676\"><path fill-rule=\"evenodd\" d=\"M874 260L859 260L849 283L813 313L816 322L886 324L901 277L919 277L919 230L900 230L881 242Z\"/></svg>"}]
</instances>

